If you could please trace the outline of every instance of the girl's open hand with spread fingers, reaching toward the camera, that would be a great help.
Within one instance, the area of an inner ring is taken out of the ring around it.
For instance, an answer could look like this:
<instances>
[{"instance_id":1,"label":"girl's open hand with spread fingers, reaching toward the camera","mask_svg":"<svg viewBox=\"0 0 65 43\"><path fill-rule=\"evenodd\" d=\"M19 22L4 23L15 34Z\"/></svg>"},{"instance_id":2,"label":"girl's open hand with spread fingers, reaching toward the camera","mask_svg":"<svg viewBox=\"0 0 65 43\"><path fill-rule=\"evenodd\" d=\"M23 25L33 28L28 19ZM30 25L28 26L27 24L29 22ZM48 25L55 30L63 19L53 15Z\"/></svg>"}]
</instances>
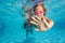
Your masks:
<instances>
[{"instance_id":1,"label":"girl's open hand with spread fingers, reaching toward the camera","mask_svg":"<svg viewBox=\"0 0 65 43\"><path fill-rule=\"evenodd\" d=\"M30 24L34 24L37 27L39 27L39 30L35 29L36 31L44 31L44 30L47 30L47 28L44 27L43 22L41 20L41 16L31 17Z\"/></svg>"}]
</instances>

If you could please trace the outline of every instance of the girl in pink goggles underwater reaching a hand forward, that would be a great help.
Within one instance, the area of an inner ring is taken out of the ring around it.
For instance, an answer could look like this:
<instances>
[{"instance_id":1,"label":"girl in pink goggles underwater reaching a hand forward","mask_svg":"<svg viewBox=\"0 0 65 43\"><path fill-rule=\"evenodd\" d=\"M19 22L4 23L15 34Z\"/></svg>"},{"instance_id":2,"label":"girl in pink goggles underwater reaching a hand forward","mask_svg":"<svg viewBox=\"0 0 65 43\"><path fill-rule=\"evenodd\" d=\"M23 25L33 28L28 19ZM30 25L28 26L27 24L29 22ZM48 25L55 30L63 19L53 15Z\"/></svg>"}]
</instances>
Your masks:
<instances>
[{"instance_id":1,"label":"girl in pink goggles underwater reaching a hand forward","mask_svg":"<svg viewBox=\"0 0 65 43\"><path fill-rule=\"evenodd\" d=\"M31 16L30 24L35 25L36 31L46 31L53 26L53 20L46 17L46 9L42 2L38 2L34 6L35 17Z\"/></svg>"}]
</instances>

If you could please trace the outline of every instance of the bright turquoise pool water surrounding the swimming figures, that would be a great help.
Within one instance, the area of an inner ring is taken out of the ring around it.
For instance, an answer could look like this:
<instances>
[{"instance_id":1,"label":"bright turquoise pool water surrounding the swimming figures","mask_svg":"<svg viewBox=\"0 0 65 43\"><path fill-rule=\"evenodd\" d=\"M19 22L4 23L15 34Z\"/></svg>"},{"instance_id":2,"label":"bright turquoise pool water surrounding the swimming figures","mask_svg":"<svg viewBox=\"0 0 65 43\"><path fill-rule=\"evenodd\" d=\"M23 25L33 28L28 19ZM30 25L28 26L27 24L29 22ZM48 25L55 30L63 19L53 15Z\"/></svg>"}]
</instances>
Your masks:
<instances>
[{"instance_id":1,"label":"bright turquoise pool water surrounding the swimming figures","mask_svg":"<svg viewBox=\"0 0 65 43\"><path fill-rule=\"evenodd\" d=\"M47 17L54 26L46 32L37 32L26 38L23 29L25 17L22 6L25 0L0 0L0 43L65 43L65 0L44 2Z\"/></svg>"}]
</instances>

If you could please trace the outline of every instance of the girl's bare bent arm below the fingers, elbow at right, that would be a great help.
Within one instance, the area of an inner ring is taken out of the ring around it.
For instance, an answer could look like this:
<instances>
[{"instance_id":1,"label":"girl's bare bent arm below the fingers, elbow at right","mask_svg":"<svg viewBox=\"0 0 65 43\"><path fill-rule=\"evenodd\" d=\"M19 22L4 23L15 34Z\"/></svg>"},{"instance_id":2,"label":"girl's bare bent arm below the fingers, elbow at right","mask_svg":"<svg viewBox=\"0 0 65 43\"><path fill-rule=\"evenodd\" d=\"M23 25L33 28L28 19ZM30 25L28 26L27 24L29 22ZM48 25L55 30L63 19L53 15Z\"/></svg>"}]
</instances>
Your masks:
<instances>
[{"instance_id":1,"label":"girl's bare bent arm below the fingers, elbow at right","mask_svg":"<svg viewBox=\"0 0 65 43\"><path fill-rule=\"evenodd\" d=\"M36 31L46 31L49 28L51 28L53 26L53 22L48 19L47 17L43 17L43 20L39 23L39 28L35 27Z\"/></svg>"}]
</instances>

